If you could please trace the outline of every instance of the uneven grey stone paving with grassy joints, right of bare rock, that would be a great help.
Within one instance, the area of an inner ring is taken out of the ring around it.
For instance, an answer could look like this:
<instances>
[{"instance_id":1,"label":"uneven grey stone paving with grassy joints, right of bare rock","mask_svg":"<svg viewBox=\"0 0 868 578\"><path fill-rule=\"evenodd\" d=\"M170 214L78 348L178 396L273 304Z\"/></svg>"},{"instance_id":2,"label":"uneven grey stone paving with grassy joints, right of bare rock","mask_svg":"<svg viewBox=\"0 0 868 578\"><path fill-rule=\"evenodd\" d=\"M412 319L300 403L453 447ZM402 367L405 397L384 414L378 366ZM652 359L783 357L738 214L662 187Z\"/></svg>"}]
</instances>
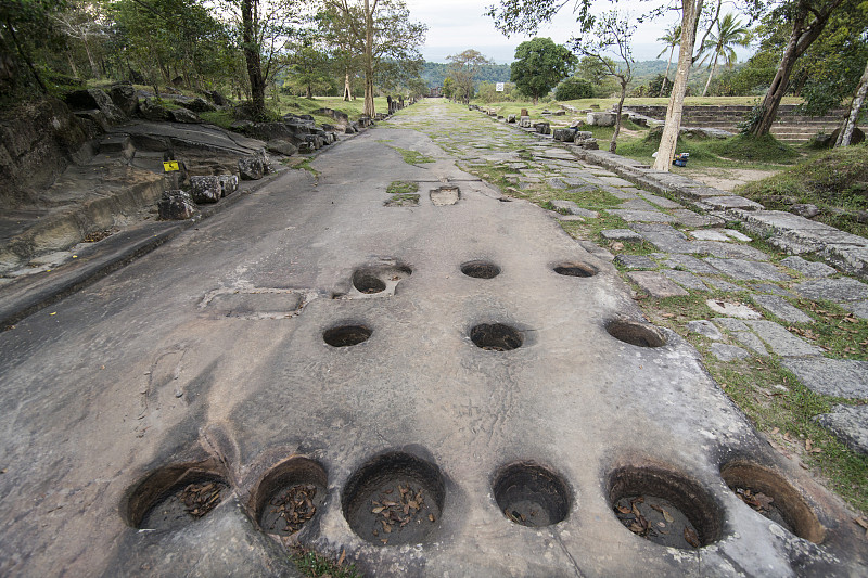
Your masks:
<instances>
[{"instance_id":1,"label":"uneven grey stone paving with grassy joints, right of bare rock","mask_svg":"<svg viewBox=\"0 0 868 578\"><path fill-rule=\"evenodd\" d=\"M552 210L586 249L614 262L651 321L697 346L773 445L822 462L825 442L791 435L771 409L777 397L807 395L828 451L837 438L868 454L868 285L781 254L724 213L639 190L550 138L442 101L420 106L423 117L400 114L388 126L426 132L505 195Z\"/></svg>"}]
</instances>

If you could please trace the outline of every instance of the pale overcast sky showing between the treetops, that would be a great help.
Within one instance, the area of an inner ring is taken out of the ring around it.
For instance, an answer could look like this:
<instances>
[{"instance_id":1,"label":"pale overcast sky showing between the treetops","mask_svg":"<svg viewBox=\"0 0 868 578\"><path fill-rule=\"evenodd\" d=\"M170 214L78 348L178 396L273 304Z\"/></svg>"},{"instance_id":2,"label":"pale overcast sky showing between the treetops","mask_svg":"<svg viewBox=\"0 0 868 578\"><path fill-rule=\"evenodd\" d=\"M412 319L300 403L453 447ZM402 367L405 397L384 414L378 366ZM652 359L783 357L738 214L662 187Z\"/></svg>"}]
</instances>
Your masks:
<instances>
[{"instance_id":1,"label":"pale overcast sky showing between the treetops","mask_svg":"<svg viewBox=\"0 0 868 578\"><path fill-rule=\"evenodd\" d=\"M457 54L469 48L478 50L493 59L497 64L512 62L515 47L532 37L513 35L507 38L494 26L494 21L483 15L486 7L496 0L406 0L410 9L410 17L427 24L427 39L422 48L422 55L429 62L446 62L446 56ZM637 16L661 2L638 0L621 0L618 10L628 10ZM614 3L597 2L602 10L614 7ZM551 24L540 27L536 36L549 37L557 43L565 43L576 31L576 18L572 3L561 9ZM746 20L746 18L742 18ZM654 22L640 24L634 36L633 51L637 61L654 60L665 49L658 41L666 28L680 22L680 13L672 11ZM749 52L738 50L739 60L746 59ZM668 54L662 56L663 60ZM677 51L675 59L678 57Z\"/></svg>"}]
</instances>

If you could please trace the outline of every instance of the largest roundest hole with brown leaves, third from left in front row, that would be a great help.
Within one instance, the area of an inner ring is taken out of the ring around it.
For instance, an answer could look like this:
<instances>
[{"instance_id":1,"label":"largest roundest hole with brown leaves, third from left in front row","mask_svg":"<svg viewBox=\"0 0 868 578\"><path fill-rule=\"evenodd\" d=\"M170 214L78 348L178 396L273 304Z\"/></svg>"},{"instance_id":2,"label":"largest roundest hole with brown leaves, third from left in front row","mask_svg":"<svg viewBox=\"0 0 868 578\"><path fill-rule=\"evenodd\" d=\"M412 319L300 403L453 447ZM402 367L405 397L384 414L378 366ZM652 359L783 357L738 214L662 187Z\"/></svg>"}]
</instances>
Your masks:
<instances>
[{"instance_id":1,"label":"largest roundest hole with brown leaves, third from left in front row","mask_svg":"<svg viewBox=\"0 0 868 578\"><path fill-rule=\"evenodd\" d=\"M391 452L350 476L342 508L353 531L372 544L418 544L439 526L445 497L436 465Z\"/></svg>"}]
</instances>

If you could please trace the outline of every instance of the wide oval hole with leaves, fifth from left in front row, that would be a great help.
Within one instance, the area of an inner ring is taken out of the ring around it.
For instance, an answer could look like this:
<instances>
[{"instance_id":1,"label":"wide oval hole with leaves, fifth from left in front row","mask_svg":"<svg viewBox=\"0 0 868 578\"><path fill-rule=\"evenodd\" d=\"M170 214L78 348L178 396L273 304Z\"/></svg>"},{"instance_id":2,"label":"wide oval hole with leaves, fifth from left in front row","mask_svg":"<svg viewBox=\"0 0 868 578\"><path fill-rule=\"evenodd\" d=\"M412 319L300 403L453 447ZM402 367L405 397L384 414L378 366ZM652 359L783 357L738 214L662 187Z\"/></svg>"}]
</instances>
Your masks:
<instances>
[{"instance_id":1,"label":"wide oval hole with leaves, fifth from left in front row","mask_svg":"<svg viewBox=\"0 0 868 578\"><path fill-rule=\"evenodd\" d=\"M720 508L698 483L656 467L622 467L609 477L609 504L633 534L693 550L720 539Z\"/></svg>"}]
</instances>

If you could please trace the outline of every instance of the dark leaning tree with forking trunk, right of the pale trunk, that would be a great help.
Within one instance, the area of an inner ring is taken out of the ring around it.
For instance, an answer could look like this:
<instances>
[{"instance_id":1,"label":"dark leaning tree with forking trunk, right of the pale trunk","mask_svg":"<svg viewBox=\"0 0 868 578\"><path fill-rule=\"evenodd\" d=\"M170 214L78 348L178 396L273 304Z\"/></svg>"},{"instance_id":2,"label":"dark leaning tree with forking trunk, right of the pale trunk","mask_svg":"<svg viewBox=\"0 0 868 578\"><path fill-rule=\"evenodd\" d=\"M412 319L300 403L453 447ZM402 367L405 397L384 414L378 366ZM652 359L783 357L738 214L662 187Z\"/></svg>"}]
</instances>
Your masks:
<instances>
[{"instance_id":1,"label":"dark leaning tree with forking trunk, right of the pale trunk","mask_svg":"<svg viewBox=\"0 0 868 578\"><path fill-rule=\"evenodd\" d=\"M768 87L763 102L752 113L746 127L748 132L755 137L762 137L771 130L796 60L819 38L829 18L843 1L783 0L770 12L770 17L786 23L790 29L790 36L771 86Z\"/></svg>"}]
</instances>

